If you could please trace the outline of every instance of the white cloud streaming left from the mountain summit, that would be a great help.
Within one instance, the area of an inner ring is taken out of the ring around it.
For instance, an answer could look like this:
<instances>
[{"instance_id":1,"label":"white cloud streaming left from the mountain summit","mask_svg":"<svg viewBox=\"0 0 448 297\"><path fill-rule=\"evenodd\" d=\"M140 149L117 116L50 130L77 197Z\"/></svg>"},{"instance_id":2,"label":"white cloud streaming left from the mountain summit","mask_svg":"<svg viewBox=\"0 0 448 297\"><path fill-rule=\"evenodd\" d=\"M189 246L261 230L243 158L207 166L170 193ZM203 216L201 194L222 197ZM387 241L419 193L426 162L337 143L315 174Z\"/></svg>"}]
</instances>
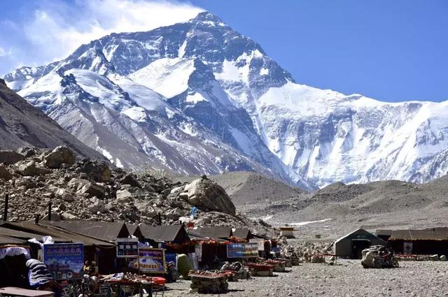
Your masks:
<instances>
[{"instance_id":1,"label":"white cloud streaming left from the mountain summit","mask_svg":"<svg viewBox=\"0 0 448 297\"><path fill-rule=\"evenodd\" d=\"M34 14L15 23L23 40L15 64L45 64L107 34L148 31L195 17L202 8L176 0L43 0ZM0 38L0 46L1 38ZM0 48L0 57L8 51ZM20 60L18 60L20 59ZM13 63L13 62L11 62Z\"/></svg>"}]
</instances>

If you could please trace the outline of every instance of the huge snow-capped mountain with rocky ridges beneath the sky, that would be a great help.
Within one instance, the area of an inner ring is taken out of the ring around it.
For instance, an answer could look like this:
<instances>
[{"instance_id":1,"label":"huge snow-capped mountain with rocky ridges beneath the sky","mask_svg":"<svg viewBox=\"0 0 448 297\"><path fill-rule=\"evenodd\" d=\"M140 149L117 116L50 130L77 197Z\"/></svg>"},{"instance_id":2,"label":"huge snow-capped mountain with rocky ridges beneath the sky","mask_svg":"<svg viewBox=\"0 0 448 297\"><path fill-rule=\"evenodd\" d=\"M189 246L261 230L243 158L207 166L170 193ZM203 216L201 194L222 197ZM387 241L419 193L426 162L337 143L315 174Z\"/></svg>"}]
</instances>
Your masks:
<instances>
[{"instance_id":1,"label":"huge snow-capped mountain with rocky ridges beneath the sky","mask_svg":"<svg viewBox=\"0 0 448 297\"><path fill-rule=\"evenodd\" d=\"M118 165L251 170L308 189L448 171L448 101L384 103L297 84L207 12L104 36L5 80Z\"/></svg>"}]
</instances>

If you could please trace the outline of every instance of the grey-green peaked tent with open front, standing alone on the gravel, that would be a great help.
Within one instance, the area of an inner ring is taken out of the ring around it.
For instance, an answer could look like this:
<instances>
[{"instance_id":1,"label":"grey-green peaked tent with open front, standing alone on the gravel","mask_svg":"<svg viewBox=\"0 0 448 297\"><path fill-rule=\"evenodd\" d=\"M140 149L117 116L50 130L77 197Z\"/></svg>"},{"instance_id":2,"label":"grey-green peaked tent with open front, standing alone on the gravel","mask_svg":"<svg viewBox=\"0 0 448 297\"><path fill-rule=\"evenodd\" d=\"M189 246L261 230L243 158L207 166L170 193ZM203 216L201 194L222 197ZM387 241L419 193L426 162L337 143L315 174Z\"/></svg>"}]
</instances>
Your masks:
<instances>
[{"instance_id":1,"label":"grey-green peaked tent with open front, standing alone on the gravel","mask_svg":"<svg viewBox=\"0 0 448 297\"><path fill-rule=\"evenodd\" d=\"M378 236L364 229L358 229L335 241L335 254L336 256L360 259L363 249L371 245L386 246L386 244L387 242Z\"/></svg>"}]
</instances>

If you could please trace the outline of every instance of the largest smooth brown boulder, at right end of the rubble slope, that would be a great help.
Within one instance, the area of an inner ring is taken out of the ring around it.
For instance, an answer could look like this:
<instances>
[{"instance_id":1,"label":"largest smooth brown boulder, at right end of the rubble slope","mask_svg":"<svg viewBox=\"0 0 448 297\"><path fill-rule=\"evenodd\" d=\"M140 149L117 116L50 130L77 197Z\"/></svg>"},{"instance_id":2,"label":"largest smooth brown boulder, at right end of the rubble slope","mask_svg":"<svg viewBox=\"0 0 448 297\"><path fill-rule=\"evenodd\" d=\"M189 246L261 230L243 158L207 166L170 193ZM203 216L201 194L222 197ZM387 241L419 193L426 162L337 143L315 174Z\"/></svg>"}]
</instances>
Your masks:
<instances>
[{"instance_id":1,"label":"largest smooth brown boulder, at right end of the rubble slope","mask_svg":"<svg viewBox=\"0 0 448 297\"><path fill-rule=\"evenodd\" d=\"M225 189L207 178L193 180L184 187L183 193L179 196L198 208L225 212L229 215L236 213L235 205Z\"/></svg>"}]
</instances>

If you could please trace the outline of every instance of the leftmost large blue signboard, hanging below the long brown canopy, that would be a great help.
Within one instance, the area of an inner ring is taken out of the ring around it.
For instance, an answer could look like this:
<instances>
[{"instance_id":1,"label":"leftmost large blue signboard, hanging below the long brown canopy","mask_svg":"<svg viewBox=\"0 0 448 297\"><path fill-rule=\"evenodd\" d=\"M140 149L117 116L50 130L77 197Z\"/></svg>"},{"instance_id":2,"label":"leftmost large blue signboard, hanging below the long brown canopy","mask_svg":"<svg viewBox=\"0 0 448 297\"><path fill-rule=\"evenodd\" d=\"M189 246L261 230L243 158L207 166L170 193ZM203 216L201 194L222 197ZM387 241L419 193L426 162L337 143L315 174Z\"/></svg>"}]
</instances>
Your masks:
<instances>
[{"instance_id":1,"label":"leftmost large blue signboard, hanging below the long brown canopy","mask_svg":"<svg viewBox=\"0 0 448 297\"><path fill-rule=\"evenodd\" d=\"M43 262L55 280L81 280L84 275L84 245L82 243L43 245Z\"/></svg>"}]
</instances>

